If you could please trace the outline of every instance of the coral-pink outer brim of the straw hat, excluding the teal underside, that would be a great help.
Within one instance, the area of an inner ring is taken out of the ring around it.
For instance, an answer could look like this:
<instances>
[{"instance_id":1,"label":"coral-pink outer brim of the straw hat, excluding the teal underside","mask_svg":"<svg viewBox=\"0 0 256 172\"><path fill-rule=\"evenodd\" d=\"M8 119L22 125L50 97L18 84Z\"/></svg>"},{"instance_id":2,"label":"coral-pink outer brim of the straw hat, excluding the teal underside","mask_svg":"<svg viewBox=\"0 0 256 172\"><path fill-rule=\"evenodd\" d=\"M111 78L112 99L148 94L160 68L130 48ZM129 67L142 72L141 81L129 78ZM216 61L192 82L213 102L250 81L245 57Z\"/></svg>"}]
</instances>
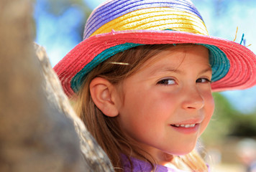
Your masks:
<instances>
[{"instance_id":1,"label":"coral-pink outer brim of the straw hat, excluding the teal underside","mask_svg":"<svg viewBox=\"0 0 256 172\"><path fill-rule=\"evenodd\" d=\"M247 47L218 37L177 31L132 30L98 34L83 40L53 68L68 97L73 77L104 50L119 44L209 44L218 47L229 59L229 71L211 83L213 91L242 90L256 84L256 55Z\"/></svg>"}]
</instances>

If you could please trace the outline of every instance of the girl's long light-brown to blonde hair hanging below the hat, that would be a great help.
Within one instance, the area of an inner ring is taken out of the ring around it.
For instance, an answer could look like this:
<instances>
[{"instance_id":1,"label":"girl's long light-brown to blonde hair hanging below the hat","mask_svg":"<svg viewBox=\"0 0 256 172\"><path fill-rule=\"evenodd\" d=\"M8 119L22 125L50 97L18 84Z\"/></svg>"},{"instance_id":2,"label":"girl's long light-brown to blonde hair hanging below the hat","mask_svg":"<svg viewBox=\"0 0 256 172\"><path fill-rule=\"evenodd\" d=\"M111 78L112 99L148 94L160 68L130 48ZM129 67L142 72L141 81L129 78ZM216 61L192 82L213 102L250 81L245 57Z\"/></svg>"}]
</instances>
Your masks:
<instances>
[{"instance_id":1,"label":"girl's long light-brown to blonde hair hanging below the hat","mask_svg":"<svg viewBox=\"0 0 256 172\"><path fill-rule=\"evenodd\" d=\"M180 46L185 45L152 44L127 49L106 59L106 61L95 67L84 78L83 85L78 92L78 97L76 97L76 113L83 120L91 135L93 135L99 145L101 145L101 148L109 156L116 172L123 171L120 158L121 154L127 156L131 166L132 161L129 158L131 153L135 153L139 158L150 163L152 169L154 169L155 160L147 152L143 151L142 148L138 147L137 144L133 143L128 135L122 133L116 118L104 115L96 107L89 90L91 80L95 77L102 77L118 87L122 80L137 72L150 57L158 54L163 49ZM144 155L147 155L147 157ZM207 166L197 153L191 153L179 159L183 165L185 163L193 171L207 171ZM174 165L177 167L181 166L178 163Z\"/></svg>"}]
</instances>

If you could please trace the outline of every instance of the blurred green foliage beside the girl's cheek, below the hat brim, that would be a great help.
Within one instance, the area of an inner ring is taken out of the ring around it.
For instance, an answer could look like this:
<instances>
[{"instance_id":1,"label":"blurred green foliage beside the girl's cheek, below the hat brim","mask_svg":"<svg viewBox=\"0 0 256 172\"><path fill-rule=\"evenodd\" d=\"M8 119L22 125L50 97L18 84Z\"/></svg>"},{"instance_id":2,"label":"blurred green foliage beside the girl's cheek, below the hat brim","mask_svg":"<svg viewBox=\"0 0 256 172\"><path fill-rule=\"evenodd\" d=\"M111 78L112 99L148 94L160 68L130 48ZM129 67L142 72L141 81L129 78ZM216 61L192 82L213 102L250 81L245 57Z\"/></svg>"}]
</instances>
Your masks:
<instances>
[{"instance_id":1,"label":"blurred green foliage beside the girl's cheek, below the hat brim","mask_svg":"<svg viewBox=\"0 0 256 172\"><path fill-rule=\"evenodd\" d=\"M204 143L218 143L227 136L256 136L256 111L247 114L235 110L221 93L214 93L214 101L214 115L206 131L201 135Z\"/></svg>"}]
</instances>

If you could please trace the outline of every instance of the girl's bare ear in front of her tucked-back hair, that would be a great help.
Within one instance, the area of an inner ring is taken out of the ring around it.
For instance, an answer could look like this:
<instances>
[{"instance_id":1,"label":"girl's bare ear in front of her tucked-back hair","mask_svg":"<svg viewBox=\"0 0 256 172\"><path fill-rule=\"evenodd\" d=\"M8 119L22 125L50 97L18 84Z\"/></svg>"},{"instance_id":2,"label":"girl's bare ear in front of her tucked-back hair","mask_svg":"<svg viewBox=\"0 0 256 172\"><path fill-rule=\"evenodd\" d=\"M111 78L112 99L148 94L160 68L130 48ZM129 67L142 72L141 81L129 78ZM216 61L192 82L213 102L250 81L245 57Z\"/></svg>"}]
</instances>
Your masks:
<instances>
[{"instance_id":1,"label":"girl's bare ear in front of her tucked-back hair","mask_svg":"<svg viewBox=\"0 0 256 172\"><path fill-rule=\"evenodd\" d=\"M116 87L102 77L94 78L90 83L90 93L94 104L104 115L115 117L119 114L116 106Z\"/></svg>"}]
</instances>

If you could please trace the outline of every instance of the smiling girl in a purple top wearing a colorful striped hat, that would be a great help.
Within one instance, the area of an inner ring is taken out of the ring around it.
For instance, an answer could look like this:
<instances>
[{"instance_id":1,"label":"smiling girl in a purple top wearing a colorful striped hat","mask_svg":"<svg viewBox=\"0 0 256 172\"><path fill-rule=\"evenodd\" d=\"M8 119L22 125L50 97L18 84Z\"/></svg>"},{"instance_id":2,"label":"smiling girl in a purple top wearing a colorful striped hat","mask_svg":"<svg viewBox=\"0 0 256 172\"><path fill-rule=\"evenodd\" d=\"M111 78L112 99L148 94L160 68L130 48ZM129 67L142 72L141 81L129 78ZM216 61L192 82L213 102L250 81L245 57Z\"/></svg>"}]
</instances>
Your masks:
<instances>
[{"instance_id":1,"label":"smiling girl in a purple top wearing a colorful striped hat","mask_svg":"<svg viewBox=\"0 0 256 172\"><path fill-rule=\"evenodd\" d=\"M193 149L212 91L256 84L256 58L208 35L191 1L108 0L54 67L115 171L208 171Z\"/></svg>"}]
</instances>

